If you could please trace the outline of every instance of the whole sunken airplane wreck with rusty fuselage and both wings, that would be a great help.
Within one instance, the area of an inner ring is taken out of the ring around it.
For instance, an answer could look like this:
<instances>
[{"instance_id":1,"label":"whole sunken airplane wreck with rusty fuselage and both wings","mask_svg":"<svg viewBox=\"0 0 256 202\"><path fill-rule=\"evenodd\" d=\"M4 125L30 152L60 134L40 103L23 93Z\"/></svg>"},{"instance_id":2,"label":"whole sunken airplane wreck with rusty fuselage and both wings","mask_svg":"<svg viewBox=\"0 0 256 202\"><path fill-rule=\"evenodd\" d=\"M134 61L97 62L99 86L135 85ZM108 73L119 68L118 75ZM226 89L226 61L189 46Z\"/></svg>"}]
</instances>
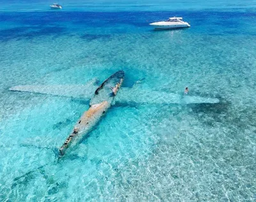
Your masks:
<instances>
[{"instance_id":1,"label":"whole sunken airplane wreck with rusty fuselage and both wings","mask_svg":"<svg viewBox=\"0 0 256 202\"><path fill-rule=\"evenodd\" d=\"M109 76L102 84L97 86L97 80L92 79L84 85L17 85L10 88L12 91L33 92L50 94L54 96L79 97L90 100L90 108L77 121L72 133L60 147L60 157L63 156L68 147L72 147L86 137L93 126L114 104L122 105L170 105L170 104L198 104L198 103L219 103L220 100L211 97L184 96L161 90L143 89L140 85L134 87L123 87L117 97L116 94L124 81L124 71L120 70Z\"/></svg>"}]
</instances>

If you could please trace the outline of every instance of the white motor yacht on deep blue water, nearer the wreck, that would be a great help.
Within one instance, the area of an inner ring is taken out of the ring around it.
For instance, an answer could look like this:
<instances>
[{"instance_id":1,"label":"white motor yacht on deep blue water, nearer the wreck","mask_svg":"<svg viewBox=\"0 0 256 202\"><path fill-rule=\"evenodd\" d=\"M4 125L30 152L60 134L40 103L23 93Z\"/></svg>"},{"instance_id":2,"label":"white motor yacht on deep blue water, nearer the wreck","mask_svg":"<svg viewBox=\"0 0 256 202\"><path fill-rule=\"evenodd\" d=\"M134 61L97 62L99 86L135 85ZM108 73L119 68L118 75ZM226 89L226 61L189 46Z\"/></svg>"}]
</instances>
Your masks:
<instances>
[{"instance_id":1,"label":"white motor yacht on deep blue water, nearer the wreck","mask_svg":"<svg viewBox=\"0 0 256 202\"><path fill-rule=\"evenodd\" d=\"M149 25L152 25L155 29L175 29L181 27L190 27L188 22L182 21L182 17L172 17L165 21L150 23Z\"/></svg>"}]
</instances>

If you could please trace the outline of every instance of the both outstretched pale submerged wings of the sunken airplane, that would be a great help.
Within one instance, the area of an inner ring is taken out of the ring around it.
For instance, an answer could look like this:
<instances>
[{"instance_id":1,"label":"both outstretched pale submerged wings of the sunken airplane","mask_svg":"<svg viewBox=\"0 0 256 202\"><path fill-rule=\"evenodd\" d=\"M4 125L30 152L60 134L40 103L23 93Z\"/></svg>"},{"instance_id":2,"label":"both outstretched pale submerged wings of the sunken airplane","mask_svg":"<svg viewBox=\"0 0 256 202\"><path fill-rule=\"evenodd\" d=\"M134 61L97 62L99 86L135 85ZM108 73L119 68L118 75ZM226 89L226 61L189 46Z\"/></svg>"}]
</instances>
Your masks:
<instances>
[{"instance_id":1,"label":"both outstretched pale submerged wings of the sunken airplane","mask_svg":"<svg viewBox=\"0 0 256 202\"><path fill-rule=\"evenodd\" d=\"M78 97L91 99L97 89L97 80L93 79L84 85L17 85L10 88L12 91L33 92L49 94L54 96ZM162 90L151 90L140 87L122 87L115 97L115 103L120 104L196 104L196 103L219 103L220 100L212 97L189 96L165 92Z\"/></svg>"}]
</instances>

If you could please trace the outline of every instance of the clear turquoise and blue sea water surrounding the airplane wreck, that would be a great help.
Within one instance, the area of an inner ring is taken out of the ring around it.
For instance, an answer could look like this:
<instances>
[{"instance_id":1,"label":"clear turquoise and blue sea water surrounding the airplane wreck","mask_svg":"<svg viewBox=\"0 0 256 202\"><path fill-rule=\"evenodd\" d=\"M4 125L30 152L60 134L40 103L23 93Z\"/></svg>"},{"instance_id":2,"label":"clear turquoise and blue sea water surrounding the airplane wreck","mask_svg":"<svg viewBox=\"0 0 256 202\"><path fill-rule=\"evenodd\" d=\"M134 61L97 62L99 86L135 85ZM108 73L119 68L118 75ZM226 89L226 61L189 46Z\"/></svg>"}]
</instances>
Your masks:
<instances>
[{"instance_id":1,"label":"clear turquoise and blue sea water surrounding the airplane wreck","mask_svg":"<svg viewBox=\"0 0 256 202\"><path fill-rule=\"evenodd\" d=\"M255 3L114 3L13 4L26 12L4 4L1 201L255 201ZM191 28L148 26L173 15ZM103 81L119 69L124 87L182 94L188 86L220 103L113 106L56 162L88 100L8 90Z\"/></svg>"}]
</instances>

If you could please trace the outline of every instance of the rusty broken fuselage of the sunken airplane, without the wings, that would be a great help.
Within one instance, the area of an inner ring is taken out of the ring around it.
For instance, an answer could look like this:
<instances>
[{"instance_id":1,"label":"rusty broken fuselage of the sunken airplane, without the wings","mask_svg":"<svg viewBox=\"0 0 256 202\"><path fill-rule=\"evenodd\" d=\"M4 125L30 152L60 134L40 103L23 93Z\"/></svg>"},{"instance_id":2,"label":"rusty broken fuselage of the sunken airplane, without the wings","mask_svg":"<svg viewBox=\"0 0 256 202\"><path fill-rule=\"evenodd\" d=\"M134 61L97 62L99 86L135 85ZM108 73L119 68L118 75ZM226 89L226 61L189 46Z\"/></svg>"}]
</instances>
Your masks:
<instances>
[{"instance_id":1,"label":"rusty broken fuselage of the sunken airplane, without the wings","mask_svg":"<svg viewBox=\"0 0 256 202\"><path fill-rule=\"evenodd\" d=\"M114 99L111 94L113 89L111 86L116 86L115 92L121 87L124 80L124 71L117 71L106 79L95 91L94 96L90 101L90 108L84 112L81 118L77 121L76 126L72 130L72 133L68 136L66 141L60 147L60 155L64 155L68 147L76 145L83 138L86 137L93 127L99 122L100 118L107 112L108 108ZM116 94L116 93L115 93Z\"/></svg>"}]
</instances>

